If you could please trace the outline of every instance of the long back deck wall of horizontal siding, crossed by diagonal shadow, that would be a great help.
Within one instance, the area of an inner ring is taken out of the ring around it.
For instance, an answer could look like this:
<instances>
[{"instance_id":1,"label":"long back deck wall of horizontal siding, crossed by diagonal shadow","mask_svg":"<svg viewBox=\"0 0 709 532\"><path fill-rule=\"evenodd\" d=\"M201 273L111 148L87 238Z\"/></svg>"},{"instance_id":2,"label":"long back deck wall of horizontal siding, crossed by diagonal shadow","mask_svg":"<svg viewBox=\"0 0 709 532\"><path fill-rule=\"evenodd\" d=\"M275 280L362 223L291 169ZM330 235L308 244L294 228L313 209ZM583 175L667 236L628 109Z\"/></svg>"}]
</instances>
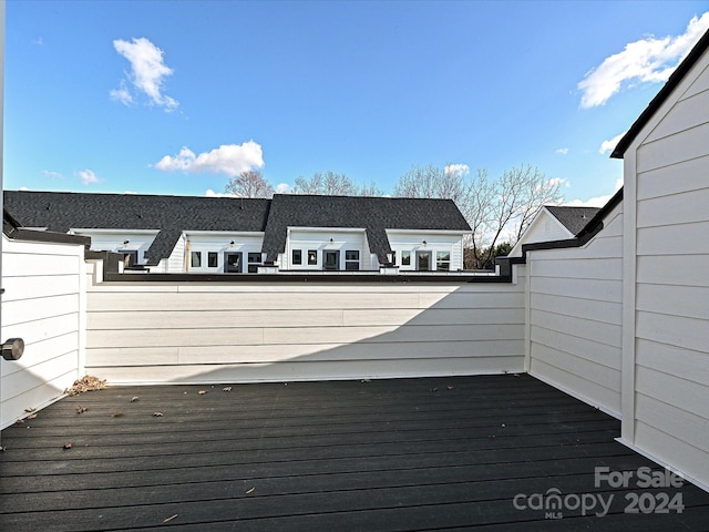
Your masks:
<instances>
[{"instance_id":1,"label":"long back deck wall of horizontal siding, crossed by diagonal shadow","mask_svg":"<svg viewBox=\"0 0 709 532\"><path fill-rule=\"evenodd\" d=\"M88 296L88 370L114 382L415 377L524 365L523 276L502 285L102 283Z\"/></svg>"}]
</instances>

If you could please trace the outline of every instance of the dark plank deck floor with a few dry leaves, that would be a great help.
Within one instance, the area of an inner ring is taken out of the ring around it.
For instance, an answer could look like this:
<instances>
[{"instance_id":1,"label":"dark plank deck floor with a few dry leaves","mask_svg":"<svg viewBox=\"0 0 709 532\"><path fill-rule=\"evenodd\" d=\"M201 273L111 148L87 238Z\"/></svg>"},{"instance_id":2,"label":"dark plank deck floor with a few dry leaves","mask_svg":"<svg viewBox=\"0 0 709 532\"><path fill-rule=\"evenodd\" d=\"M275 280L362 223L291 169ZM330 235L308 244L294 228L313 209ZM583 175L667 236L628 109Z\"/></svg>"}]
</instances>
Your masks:
<instances>
[{"instance_id":1,"label":"dark plank deck floor with a few dry leaves","mask_svg":"<svg viewBox=\"0 0 709 532\"><path fill-rule=\"evenodd\" d=\"M525 375L225 386L91 391L3 430L0 530L709 530L689 483L596 487L597 467L661 469ZM562 519L515 508L555 489ZM624 513L661 493L684 512Z\"/></svg>"}]
</instances>

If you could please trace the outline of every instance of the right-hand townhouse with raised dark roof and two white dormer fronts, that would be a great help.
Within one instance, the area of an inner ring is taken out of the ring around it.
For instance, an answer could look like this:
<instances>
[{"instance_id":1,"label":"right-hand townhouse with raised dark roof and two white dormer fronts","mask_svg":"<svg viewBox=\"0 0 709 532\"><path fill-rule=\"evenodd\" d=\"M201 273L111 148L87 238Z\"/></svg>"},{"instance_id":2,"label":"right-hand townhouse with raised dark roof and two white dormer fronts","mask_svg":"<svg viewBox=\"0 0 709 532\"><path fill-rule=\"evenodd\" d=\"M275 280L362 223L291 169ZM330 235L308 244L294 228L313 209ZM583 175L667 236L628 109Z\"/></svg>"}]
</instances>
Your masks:
<instances>
[{"instance_id":1,"label":"right-hand townhouse with raised dark roof and two white dormer fronts","mask_svg":"<svg viewBox=\"0 0 709 532\"><path fill-rule=\"evenodd\" d=\"M284 270L458 272L467 233L450 200L276 195L264 253Z\"/></svg>"}]
</instances>

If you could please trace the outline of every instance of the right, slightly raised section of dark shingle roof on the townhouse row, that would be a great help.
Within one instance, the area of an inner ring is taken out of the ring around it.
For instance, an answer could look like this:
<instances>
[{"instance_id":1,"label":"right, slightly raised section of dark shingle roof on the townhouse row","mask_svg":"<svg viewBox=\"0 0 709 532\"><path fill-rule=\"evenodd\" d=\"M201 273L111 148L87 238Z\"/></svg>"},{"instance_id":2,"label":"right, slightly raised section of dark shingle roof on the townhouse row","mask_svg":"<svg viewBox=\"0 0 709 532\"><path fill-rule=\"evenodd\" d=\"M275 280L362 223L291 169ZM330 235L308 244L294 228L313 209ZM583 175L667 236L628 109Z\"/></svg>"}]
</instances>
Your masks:
<instances>
[{"instance_id":1,"label":"right, slightly raised section of dark shingle roof on the townhouse row","mask_svg":"<svg viewBox=\"0 0 709 532\"><path fill-rule=\"evenodd\" d=\"M267 260L285 252L288 227L364 228L382 263L391 252L384 229L470 231L452 200L277 194L264 236Z\"/></svg>"}]
</instances>

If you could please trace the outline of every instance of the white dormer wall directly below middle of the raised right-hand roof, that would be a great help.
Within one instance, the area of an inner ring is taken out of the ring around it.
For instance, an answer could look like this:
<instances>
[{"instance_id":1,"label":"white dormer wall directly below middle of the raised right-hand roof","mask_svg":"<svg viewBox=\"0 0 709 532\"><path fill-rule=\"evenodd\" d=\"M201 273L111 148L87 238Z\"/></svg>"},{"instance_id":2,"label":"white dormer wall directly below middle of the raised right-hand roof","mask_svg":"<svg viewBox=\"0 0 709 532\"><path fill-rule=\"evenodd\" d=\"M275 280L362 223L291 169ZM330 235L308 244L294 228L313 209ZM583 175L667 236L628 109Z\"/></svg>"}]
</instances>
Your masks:
<instances>
[{"instance_id":1,"label":"white dormer wall directly below middle of the raised right-hand roof","mask_svg":"<svg viewBox=\"0 0 709 532\"><path fill-rule=\"evenodd\" d=\"M330 238L332 242L330 242ZM301 250L302 264L292 264L294 249ZM308 264L309 250L316 252L316 264ZM338 269L345 269L345 252L347 250L359 252L360 270L377 269L377 265L372 267L371 264L364 229L340 229L337 227L330 229L289 228L288 238L286 239L286 253L280 255L279 267L285 270L321 270L323 269L323 253L326 250L340 252Z\"/></svg>"}]
</instances>

